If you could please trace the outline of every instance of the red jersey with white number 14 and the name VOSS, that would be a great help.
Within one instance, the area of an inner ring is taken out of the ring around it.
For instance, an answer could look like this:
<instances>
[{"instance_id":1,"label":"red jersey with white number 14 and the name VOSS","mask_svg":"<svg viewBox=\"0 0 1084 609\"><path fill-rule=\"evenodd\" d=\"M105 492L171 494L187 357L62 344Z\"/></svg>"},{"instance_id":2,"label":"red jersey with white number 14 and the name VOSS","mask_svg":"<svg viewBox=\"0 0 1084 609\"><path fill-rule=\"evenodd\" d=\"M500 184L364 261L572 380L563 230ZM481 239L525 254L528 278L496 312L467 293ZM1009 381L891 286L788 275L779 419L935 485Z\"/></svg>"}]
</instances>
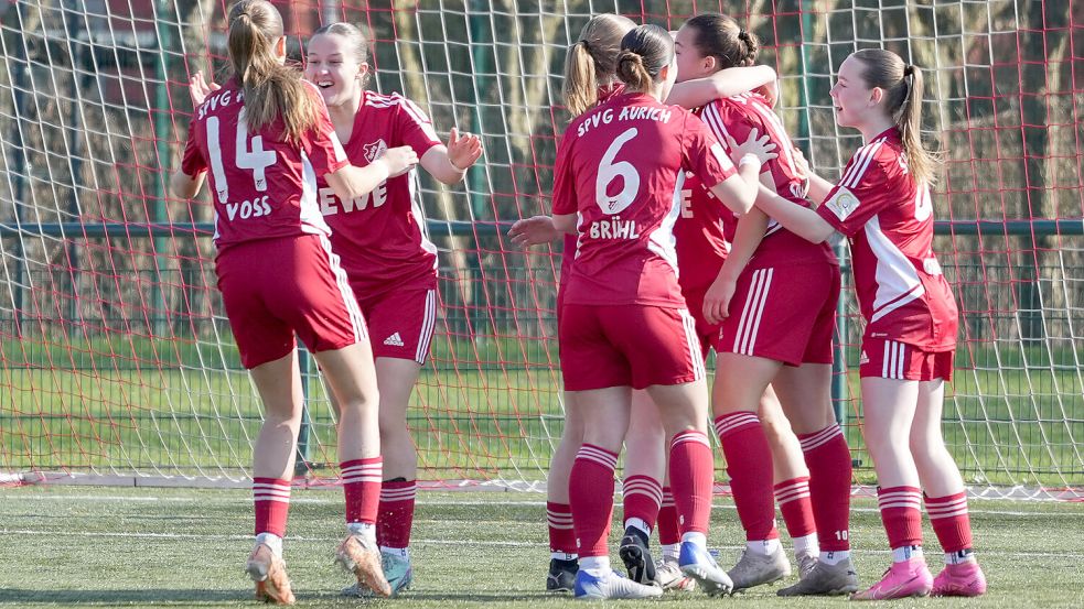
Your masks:
<instances>
[{"instance_id":1,"label":"red jersey with white number 14 and the name VOSS","mask_svg":"<svg viewBox=\"0 0 1084 609\"><path fill-rule=\"evenodd\" d=\"M345 166L346 154L316 88L307 83L305 90L320 115L300 149L286 142L281 119L259 133L248 132L244 90L236 80L196 109L181 171L194 176L211 168L219 252L258 239L330 232L316 204L316 177Z\"/></svg>"}]
</instances>

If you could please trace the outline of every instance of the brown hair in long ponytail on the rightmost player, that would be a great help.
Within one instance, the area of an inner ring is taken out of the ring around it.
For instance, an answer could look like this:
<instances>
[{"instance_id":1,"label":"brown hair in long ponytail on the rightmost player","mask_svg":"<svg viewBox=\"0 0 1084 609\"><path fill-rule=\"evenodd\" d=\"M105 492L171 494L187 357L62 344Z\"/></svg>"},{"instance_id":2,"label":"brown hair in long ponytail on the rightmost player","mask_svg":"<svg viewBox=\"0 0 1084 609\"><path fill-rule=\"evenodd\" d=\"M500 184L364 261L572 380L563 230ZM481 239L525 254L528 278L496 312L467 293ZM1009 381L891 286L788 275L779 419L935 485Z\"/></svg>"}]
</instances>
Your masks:
<instances>
[{"instance_id":1,"label":"brown hair in long ponytail on the rightmost player","mask_svg":"<svg viewBox=\"0 0 1084 609\"><path fill-rule=\"evenodd\" d=\"M881 48L863 48L854 57L866 66L862 75L866 84L870 88L884 89L886 108L900 130L911 175L915 182L934 184L940 161L922 145L922 70L905 64L895 53Z\"/></svg>"}]
</instances>

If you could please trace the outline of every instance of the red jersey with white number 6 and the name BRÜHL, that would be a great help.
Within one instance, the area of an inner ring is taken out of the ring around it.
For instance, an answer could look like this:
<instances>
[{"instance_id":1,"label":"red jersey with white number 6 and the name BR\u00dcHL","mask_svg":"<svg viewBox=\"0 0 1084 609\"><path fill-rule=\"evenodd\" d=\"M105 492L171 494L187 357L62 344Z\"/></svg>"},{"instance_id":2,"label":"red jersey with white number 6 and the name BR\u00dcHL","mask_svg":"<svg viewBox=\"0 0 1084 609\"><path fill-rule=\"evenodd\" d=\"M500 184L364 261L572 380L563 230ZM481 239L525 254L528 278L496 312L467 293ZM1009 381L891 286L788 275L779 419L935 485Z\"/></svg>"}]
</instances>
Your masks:
<instances>
[{"instance_id":1,"label":"red jersey with white number 6 and the name BR\u00dcHL","mask_svg":"<svg viewBox=\"0 0 1084 609\"><path fill-rule=\"evenodd\" d=\"M713 186L734 166L684 108L624 94L572 121L554 174L554 214L578 216L566 303L685 305L673 228L686 172Z\"/></svg>"}]
</instances>

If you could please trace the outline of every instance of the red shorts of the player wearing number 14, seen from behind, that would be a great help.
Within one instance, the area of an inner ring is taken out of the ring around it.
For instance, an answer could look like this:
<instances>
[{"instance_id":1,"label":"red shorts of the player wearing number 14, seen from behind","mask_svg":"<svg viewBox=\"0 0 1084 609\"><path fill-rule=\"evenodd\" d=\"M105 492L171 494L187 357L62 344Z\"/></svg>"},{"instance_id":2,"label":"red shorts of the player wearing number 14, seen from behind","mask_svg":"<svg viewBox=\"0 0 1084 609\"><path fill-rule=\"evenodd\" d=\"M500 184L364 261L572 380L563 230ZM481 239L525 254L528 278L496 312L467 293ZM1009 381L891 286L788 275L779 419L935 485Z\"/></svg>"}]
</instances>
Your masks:
<instances>
[{"instance_id":1,"label":"red shorts of the player wearing number 14, seen from behind","mask_svg":"<svg viewBox=\"0 0 1084 609\"><path fill-rule=\"evenodd\" d=\"M367 340L346 273L324 236L303 235L232 246L215 258L218 290L245 368L293 350L311 352Z\"/></svg>"}]
</instances>

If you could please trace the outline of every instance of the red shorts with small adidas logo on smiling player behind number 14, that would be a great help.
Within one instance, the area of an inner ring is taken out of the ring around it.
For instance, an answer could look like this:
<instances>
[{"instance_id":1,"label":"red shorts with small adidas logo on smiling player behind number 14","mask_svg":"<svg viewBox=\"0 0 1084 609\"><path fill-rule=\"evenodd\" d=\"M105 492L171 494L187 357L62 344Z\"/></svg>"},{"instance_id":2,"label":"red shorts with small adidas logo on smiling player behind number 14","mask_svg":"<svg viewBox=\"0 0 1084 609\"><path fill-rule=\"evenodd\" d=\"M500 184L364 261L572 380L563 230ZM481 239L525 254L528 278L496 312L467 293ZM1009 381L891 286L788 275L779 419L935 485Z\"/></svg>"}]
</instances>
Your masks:
<instances>
[{"instance_id":1,"label":"red shorts with small adidas logo on smiling player behind number 14","mask_svg":"<svg viewBox=\"0 0 1084 609\"><path fill-rule=\"evenodd\" d=\"M425 363L437 327L437 291L399 289L365 300L357 294L374 358L412 359Z\"/></svg>"}]
</instances>

